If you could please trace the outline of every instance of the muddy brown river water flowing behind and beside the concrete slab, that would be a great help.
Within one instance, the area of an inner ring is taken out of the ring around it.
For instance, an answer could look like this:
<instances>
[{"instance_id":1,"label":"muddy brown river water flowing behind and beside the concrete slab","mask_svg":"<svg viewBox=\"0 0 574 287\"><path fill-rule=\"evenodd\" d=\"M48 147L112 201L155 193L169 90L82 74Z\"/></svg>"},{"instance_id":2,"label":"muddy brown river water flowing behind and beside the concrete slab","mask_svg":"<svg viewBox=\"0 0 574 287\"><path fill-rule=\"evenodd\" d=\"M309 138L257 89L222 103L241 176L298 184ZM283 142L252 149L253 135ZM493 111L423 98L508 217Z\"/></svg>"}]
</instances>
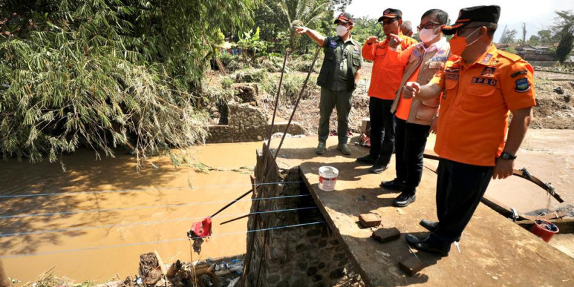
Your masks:
<instances>
[{"instance_id":1,"label":"muddy brown river water flowing behind and beside the concrete slab","mask_svg":"<svg viewBox=\"0 0 574 287\"><path fill-rule=\"evenodd\" d=\"M493 180L487 194L531 215L549 205L551 208L572 206L572 139L574 130L529 130L516 161L517 168L527 166L532 174L551 182L565 203L549 200L542 189L519 178ZM314 147L317 143L315 137L298 141L302 148ZM433 143L431 136L427 148L433 148ZM186 231L192 222L198 221L190 218L212 215L250 189L252 171L241 167L255 165L255 150L261 146L259 142L223 143L194 148L193 155L198 162L221 169L209 173L200 173L196 167L175 169L167 157L153 159L159 169L136 172L134 157L118 154L115 159L96 161L88 150L63 157L66 173L60 164L0 162L0 196L56 193L0 198L0 256L42 254L4 258L8 276L25 283L55 267L54 273L59 277L99 283L137 274L139 255L149 251L157 250L166 263L175 259L189 261ZM289 157L289 154L282 156ZM194 188L185 188L190 185ZM137 190L74 194L124 189ZM200 259L245 252L247 219L223 226L219 223L248 213L250 204L250 200L240 201L214 218L214 237L202 245ZM100 211L85 212L90 210ZM81 213L6 218L55 212ZM33 233L63 228L74 229ZM9 233L29 234L1 236ZM225 233L235 234L218 236ZM166 242L138 245L157 241ZM193 260L198 259L197 254L193 256Z\"/></svg>"}]
</instances>

